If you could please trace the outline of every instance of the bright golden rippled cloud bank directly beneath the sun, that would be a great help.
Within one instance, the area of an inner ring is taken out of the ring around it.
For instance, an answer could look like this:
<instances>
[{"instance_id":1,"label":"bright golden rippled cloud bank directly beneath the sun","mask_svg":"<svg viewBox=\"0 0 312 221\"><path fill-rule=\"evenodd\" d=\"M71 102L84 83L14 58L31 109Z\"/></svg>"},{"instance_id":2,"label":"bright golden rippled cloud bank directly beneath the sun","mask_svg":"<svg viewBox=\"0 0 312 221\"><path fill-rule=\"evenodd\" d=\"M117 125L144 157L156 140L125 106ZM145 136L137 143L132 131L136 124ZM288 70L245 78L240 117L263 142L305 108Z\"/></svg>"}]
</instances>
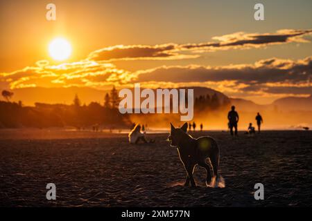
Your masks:
<instances>
[{"instance_id":1,"label":"bright golden rippled cloud bank directly beneath the sun","mask_svg":"<svg viewBox=\"0 0 312 221\"><path fill-rule=\"evenodd\" d=\"M93 88L125 84L132 74L118 69L113 64L96 61L78 61L50 65L49 61L38 61L37 66L28 66L12 73L0 73L1 88L69 87Z\"/></svg>"}]
</instances>

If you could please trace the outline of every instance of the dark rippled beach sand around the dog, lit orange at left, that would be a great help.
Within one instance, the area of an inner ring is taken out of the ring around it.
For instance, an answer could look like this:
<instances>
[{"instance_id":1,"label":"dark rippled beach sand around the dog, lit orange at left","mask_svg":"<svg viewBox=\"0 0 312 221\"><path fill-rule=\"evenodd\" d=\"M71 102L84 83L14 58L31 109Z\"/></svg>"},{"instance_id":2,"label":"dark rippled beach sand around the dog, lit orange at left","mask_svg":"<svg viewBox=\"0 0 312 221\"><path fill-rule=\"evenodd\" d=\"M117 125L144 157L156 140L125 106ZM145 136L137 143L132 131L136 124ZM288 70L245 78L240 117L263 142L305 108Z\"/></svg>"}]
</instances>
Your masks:
<instances>
[{"instance_id":1,"label":"dark rippled beach sand around the dog, lit orange at left","mask_svg":"<svg viewBox=\"0 0 312 221\"><path fill-rule=\"evenodd\" d=\"M312 131L263 131L254 137L210 135L220 148L225 188L184 187L185 171L167 133L155 144L128 144L126 134L1 130L0 206L312 206ZM46 200L46 184L57 200ZM254 199L254 184L264 200Z\"/></svg>"}]
</instances>

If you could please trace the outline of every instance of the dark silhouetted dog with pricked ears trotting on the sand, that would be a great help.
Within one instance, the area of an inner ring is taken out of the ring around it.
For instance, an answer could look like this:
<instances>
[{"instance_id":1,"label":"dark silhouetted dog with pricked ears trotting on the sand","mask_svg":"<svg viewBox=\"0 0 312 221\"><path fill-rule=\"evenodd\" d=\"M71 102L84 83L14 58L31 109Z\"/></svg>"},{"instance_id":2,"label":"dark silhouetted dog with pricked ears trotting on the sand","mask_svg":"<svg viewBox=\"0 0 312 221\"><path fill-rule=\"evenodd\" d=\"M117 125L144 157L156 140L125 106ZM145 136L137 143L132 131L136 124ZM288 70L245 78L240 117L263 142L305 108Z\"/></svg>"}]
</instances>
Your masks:
<instances>
[{"instance_id":1,"label":"dark silhouetted dog with pricked ears trotting on the sand","mask_svg":"<svg viewBox=\"0 0 312 221\"><path fill-rule=\"evenodd\" d=\"M171 146L177 147L177 153L187 171L184 186L189 186L189 182L191 182L192 187L196 186L196 182L193 179L193 171L196 164L206 169L207 186L218 186L219 148L213 138L199 137L194 139L187 134L187 123L185 123L181 128L175 128L171 124L171 133L168 141L171 142ZM210 166L206 162L207 158L209 158L214 174L212 178Z\"/></svg>"}]
</instances>

